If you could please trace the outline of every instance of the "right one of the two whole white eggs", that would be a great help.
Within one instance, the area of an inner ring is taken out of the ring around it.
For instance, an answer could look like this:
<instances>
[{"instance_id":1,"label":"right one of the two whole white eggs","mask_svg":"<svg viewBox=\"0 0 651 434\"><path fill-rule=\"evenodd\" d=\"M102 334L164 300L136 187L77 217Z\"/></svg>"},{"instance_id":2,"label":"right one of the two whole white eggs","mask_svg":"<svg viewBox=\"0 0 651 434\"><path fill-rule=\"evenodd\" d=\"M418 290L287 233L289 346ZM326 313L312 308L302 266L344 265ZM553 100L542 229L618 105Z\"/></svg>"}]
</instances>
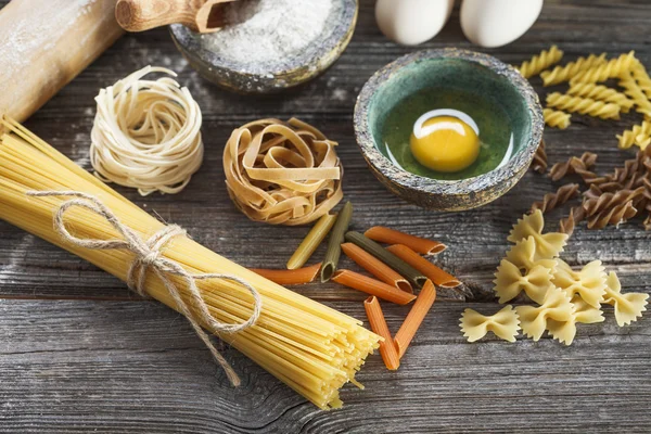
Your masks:
<instances>
[{"instance_id":1,"label":"right one of the two whole white eggs","mask_svg":"<svg viewBox=\"0 0 651 434\"><path fill-rule=\"evenodd\" d=\"M520 38L534 25L542 0L463 0L461 28L482 47L501 47Z\"/></svg>"}]
</instances>

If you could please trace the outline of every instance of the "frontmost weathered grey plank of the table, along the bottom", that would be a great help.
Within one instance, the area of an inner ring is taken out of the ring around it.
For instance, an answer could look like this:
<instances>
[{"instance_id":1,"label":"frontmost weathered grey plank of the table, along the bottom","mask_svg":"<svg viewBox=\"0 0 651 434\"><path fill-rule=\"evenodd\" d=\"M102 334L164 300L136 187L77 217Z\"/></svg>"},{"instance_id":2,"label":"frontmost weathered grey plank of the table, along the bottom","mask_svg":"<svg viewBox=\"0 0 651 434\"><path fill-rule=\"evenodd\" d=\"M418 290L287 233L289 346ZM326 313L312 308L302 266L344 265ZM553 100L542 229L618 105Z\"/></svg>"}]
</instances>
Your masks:
<instances>
[{"instance_id":1,"label":"frontmost weathered grey plank of the table, along the bottom","mask_svg":"<svg viewBox=\"0 0 651 434\"><path fill-rule=\"evenodd\" d=\"M464 307L436 304L397 372L372 356L344 409L318 411L234 350L232 388L176 312L155 303L0 303L1 432L648 431L649 321L467 344ZM343 307L362 316L360 304ZM38 315L35 312L38 311ZM396 330L404 308L385 306Z\"/></svg>"}]
</instances>

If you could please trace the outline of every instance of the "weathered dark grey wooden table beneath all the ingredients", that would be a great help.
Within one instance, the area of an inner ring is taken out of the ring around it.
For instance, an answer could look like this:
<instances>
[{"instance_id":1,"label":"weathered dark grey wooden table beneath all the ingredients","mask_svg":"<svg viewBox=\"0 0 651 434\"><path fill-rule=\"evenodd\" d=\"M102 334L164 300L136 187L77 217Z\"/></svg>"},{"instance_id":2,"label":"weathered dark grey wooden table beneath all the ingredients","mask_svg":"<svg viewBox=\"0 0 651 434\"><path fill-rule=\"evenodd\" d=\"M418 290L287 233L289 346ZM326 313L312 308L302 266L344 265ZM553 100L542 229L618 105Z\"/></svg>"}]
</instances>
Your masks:
<instances>
[{"instance_id":1,"label":"weathered dark grey wooden table beneath all the ingredients","mask_svg":"<svg viewBox=\"0 0 651 434\"><path fill-rule=\"evenodd\" d=\"M4 1L2 1L4 3ZM549 337L516 344L487 337L469 344L459 332L467 307L497 311L492 279L511 225L534 199L552 191L527 174L506 196L480 209L443 214L407 204L367 169L353 133L355 98L379 67L412 48L378 30L372 1L362 1L355 37L323 76L270 98L239 97L203 80L174 48L166 30L127 35L61 91L27 127L89 168L89 133L100 87L146 64L179 73L204 115L206 156L177 195L141 197L118 189L208 247L245 266L282 267L307 228L248 221L228 199L221 152L231 130L260 117L307 120L340 141L344 190L355 204L354 227L387 225L449 244L438 263L468 283L470 297L441 295L397 372L372 356L359 374L365 391L346 387L342 410L324 412L234 349L225 354L243 379L232 388L188 322L84 260L0 222L0 432L368 433L460 431L651 431L651 320L618 328L612 311L580 326L565 347ZM520 64L558 43L566 59L636 50L651 66L651 3L642 0L548 0L536 25L516 42L485 50ZM458 11L422 48L476 49L462 37ZM539 87L538 79L535 84ZM590 150L598 170L629 157L615 133L633 124L575 116L566 131L548 130L550 162ZM566 212L566 209L564 210ZM552 213L550 227L562 215ZM578 229L563 258L604 261L624 291L649 292L651 233L636 219L621 228ZM320 251L321 252L321 251ZM363 295L336 284L296 291L363 318ZM395 331L407 307L385 312Z\"/></svg>"}]
</instances>

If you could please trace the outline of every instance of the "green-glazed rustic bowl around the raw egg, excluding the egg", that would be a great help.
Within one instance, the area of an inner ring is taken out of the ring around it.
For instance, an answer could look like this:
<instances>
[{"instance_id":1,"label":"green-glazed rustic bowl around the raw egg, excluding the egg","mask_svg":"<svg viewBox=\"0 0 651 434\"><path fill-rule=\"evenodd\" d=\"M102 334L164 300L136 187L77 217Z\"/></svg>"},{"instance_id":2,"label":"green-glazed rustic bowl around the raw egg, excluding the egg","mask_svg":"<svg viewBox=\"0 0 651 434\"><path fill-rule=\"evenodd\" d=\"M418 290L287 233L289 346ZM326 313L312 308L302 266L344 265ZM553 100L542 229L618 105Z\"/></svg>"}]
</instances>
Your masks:
<instances>
[{"instance_id":1,"label":"green-glazed rustic bowl around the raw egg, excluding the egg","mask_svg":"<svg viewBox=\"0 0 651 434\"><path fill-rule=\"evenodd\" d=\"M502 166L468 179L436 180L403 170L379 149L384 119L403 99L431 87L485 94L509 114L514 150ZM463 210L511 189L528 168L542 138L542 108L529 82L510 65L457 49L418 51L378 71L355 106L355 133L371 171L393 193L425 208Z\"/></svg>"}]
</instances>

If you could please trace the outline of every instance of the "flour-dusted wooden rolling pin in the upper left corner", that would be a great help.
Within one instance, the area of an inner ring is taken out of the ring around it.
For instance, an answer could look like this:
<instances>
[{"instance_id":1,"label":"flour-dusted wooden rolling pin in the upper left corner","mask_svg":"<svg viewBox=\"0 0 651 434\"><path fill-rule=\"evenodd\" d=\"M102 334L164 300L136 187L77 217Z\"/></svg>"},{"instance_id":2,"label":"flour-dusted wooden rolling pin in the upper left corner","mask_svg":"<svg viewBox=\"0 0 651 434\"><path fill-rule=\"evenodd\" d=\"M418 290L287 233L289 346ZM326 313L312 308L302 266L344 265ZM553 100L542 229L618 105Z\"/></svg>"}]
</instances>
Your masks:
<instances>
[{"instance_id":1,"label":"flour-dusted wooden rolling pin in the upper left corner","mask_svg":"<svg viewBox=\"0 0 651 434\"><path fill-rule=\"evenodd\" d=\"M0 10L0 115L25 120L123 33L115 0L9 2Z\"/></svg>"}]
</instances>

